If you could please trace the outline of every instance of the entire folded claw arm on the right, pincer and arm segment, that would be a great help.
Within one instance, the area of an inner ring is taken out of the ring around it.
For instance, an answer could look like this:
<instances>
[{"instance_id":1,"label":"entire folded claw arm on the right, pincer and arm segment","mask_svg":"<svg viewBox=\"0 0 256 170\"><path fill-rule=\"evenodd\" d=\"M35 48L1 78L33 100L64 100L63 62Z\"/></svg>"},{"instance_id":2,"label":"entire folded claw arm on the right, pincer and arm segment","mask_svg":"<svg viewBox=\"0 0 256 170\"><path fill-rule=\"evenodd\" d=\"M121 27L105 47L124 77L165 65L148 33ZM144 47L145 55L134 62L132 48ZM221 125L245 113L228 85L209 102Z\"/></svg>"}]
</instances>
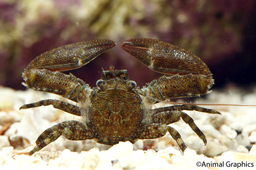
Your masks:
<instances>
[{"instance_id":1,"label":"entire folded claw arm on the right, pincer and arm segment","mask_svg":"<svg viewBox=\"0 0 256 170\"><path fill-rule=\"evenodd\" d=\"M194 54L178 46L155 39L138 38L126 40L122 48L148 68L163 74L148 83L143 95L159 100L169 98L199 96L208 93L214 84L207 65Z\"/></svg>"}]
</instances>

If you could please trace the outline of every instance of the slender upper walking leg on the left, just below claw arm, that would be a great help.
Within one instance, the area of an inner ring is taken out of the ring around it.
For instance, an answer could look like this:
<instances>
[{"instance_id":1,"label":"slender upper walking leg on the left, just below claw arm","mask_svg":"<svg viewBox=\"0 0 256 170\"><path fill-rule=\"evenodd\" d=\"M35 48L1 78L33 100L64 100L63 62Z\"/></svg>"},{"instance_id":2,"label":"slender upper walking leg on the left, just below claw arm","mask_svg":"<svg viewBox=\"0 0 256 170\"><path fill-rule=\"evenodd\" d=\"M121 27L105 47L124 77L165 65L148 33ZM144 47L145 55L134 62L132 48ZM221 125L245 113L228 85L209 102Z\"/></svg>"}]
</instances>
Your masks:
<instances>
[{"instance_id":1,"label":"slender upper walking leg on the left, just below claw arm","mask_svg":"<svg viewBox=\"0 0 256 170\"><path fill-rule=\"evenodd\" d=\"M20 109L28 109L28 108L33 108L33 107L39 107L39 106L49 106L53 105L54 108L63 110L65 112L74 114L76 116L81 116L81 108L75 105L72 105L70 103L62 102L59 100L41 100L39 102L23 105Z\"/></svg>"}]
</instances>

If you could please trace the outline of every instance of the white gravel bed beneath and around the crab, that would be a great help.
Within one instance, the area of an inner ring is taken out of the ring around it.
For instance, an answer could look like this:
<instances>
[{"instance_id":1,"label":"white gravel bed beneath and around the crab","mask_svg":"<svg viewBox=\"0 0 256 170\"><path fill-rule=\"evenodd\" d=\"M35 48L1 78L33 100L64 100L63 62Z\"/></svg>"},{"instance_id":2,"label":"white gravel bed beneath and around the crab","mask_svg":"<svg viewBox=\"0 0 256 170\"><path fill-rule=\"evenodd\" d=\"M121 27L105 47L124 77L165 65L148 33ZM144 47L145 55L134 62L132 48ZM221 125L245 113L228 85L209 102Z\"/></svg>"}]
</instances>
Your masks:
<instances>
[{"instance_id":1,"label":"white gravel bed beneath and around the crab","mask_svg":"<svg viewBox=\"0 0 256 170\"><path fill-rule=\"evenodd\" d=\"M244 95L239 89L230 91L232 93L214 91L206 99L197 98L195 102L256 104L256 88ZM54 94L5 87L0 87L0 94L1 169L226 169L237 166L253 169L256 166L256 107L208 107L222 115L185 111L206 135L207 145L204 146L182 120L171 124L188 147L184 155L172 137L166 134L159 139L138 140L135 144L120 142L113 147L93 140L71 141L60 137L28 156L24 153L33 148L41 132L65 120L79 118L52 106L19 110L23 104L60 99ZM156 107L162 105L165 104Z\"/></svg>"}]
</instances>

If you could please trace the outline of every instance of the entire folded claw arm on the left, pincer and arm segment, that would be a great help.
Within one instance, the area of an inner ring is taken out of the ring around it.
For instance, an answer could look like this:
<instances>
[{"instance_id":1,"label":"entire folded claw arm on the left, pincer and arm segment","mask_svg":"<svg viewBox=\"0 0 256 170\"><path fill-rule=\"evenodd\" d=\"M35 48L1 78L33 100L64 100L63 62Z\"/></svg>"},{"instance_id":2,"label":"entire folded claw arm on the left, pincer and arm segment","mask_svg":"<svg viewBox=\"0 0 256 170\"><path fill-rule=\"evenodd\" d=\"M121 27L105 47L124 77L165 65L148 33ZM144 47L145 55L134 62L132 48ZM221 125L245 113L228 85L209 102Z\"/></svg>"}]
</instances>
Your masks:
<instances>
[{"instance_id":1,"label":"entire folded claw arm on the left, pincer and arm segment","mask_svg":"<svg viewBox=\"0 0 256 170\"><path fill-rule=\"evenodd\" d=\"M111 40L83 41L60 46L37 56L23 72L26 87L51 92L82 103L86 100L89 85L72 74L58 71L80 68L102 52L115 46Z\"/></svg>"}]
</instances>

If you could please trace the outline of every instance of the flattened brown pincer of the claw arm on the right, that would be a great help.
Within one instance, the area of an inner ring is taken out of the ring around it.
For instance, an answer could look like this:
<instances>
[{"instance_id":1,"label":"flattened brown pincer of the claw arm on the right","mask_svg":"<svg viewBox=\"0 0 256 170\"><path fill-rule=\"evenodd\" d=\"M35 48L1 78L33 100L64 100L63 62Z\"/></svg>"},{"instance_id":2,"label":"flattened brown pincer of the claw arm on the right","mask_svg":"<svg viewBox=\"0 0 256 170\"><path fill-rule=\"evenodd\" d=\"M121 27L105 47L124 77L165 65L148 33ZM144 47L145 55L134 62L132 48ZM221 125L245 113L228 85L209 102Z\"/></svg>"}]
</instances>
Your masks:
<instances>
[{"instance_id":1,"label":"flattened brown pincer of the claw arm on the right","mask_svg":"<svg viewBox=\"0 0 256 170\"><path fill-rule=\"evenodd\" d=\"M138 38L124 41L122 48L154 71L169 75L200 74L211 78L209 68L200 58L178 46Z\"/></svg>"}]
</instances>

